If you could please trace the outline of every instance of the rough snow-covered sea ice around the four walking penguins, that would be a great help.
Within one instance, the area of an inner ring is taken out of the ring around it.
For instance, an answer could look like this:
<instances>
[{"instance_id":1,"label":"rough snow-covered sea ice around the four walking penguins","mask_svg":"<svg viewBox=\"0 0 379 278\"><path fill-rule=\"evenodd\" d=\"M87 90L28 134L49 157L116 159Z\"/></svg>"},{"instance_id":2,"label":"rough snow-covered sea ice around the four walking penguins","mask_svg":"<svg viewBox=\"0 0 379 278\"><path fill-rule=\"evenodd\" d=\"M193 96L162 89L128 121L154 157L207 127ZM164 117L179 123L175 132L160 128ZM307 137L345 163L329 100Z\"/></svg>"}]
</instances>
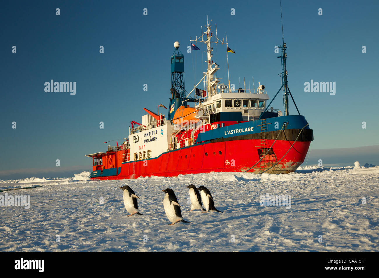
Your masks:
<instances>
[{"instance_id":1,"label":"rough snow-covered sea ice around the four walking penguins","mask_svg":"<svg viewBox=\"0 0 379 278\"><path fill-rule=\"evenodd\" d=\"M117 181L89 181L88 174L1 181L8 191L0 195L30 195L30 208L0 206L0 251L379 251L379 167ZM224 213L189 212L191 183L206 186ZM127 217L124 184L144 216ZM9 190L16 188L24 189ZM191 223L168 225L166 188ZM261 206L266 194L290 195L291 208Z\"/></svg>"}]
</instances>

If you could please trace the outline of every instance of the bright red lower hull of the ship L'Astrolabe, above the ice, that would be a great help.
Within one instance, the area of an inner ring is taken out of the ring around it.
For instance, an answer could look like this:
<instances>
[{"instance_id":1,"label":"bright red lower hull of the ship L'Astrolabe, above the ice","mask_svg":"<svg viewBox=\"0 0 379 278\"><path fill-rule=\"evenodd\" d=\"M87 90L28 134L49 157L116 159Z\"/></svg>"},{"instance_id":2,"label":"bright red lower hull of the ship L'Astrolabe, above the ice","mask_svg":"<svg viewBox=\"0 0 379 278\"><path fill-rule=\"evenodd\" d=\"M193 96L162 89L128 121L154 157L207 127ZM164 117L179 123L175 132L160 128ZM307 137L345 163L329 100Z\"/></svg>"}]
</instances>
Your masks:
<instances>
[{"instance_id":1,"label":"bright red lower hull of the ship L'Astrolabe, above the ice","mask_svg":"<svg viewBox=\"0 0 379 278\"><path fill-rule=\"evenodd\" d=\"M267 140L267 143L271 146L274 140ZM121 171L118 171L117 175L92 177L91 179L115 180L150 176L174 177L180 174L209 172L247 171L258 174L275 165L277 161L279 163L266 172L285 174L295 171L304 162L310 141L277 140L272 148L274 154L266 155L261 162L259 162L261 158L258 149L260 148L259 145L260 140L251 139L195 144L165 152L157 158L124 162L121 165ZM251 168L252 166L254 167Z\"/></svg>"}]
</instances>

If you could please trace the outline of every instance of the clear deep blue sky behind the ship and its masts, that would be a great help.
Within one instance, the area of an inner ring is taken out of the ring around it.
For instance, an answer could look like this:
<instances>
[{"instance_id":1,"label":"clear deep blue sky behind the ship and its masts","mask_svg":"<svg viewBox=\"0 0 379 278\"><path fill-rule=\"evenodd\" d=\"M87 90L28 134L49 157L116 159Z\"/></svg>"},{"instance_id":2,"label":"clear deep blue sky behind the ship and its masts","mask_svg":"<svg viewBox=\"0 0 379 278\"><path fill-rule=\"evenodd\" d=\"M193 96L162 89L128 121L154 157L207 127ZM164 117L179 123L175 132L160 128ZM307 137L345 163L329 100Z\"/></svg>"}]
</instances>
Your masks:
<instances>
[{"instance_id":1,"label":"clear deep blue sky behind the ship and its masts","mask_svg":"<svg viewBox=\"0 0 379 278\"><path fill-rule=\"evenodd\" d=\"M379 2L283 1L282 9L288 84L314 130L312 148L378 145ZM241 77L248 86L254 76L271 97L281 85L274 53L282 42L279 1L217 1L210 8L204 1L13 1L2 4L0 15L0 179L91 169L85 154L125 138L130 121L141 121L143 107L168 105L175 41L185 54L189 92L205 63L201 51L189 54L186 46L190 36L200 35L207 15L236 52L229 54L231 83ZM218 77L227 83L225 47L213 54L221 66ZM51 79L76 82L76 95L46 93L44 83ZM336 94L305 93L304 82L311 79L336 82ZM280 98L272 106L283 110Z\"/></svg>"}]
</instances>

